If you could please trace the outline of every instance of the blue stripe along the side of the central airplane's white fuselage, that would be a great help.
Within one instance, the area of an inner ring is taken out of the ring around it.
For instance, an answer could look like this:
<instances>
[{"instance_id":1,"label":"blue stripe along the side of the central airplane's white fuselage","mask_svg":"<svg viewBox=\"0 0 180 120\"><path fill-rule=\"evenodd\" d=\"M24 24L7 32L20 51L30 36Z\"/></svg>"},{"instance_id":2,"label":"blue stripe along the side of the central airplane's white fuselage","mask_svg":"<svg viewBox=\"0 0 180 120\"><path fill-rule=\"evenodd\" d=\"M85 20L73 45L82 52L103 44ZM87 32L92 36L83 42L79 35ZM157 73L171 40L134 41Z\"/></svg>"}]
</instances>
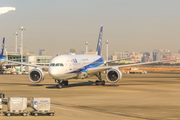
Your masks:
<instances>
[{"instance_id":1,"label":"blue stripe along the side of the central airplane's white fuselage","mask_svg":"<svg viewBox=\"0 0 180 120\"><path fill-rule=\"evenodd\" d=\"M75 71L69 72L69 73L67 73L67 74L70 74L70 73L79 73L79 72L86 72L87 68L95 68L95 67L98 67L98 66L100 66L100 65L102 65L102 64L104 64L104 60L103 60L103 58L101 57L101 58L97 59L96 61L94 61L93 63L90 63L90 64L88 64L88 65L86 65L86 66L83 66L83 67L80 68L80 69L77 69L77 70L75 70Z\"/></svg>"}]
</instances>

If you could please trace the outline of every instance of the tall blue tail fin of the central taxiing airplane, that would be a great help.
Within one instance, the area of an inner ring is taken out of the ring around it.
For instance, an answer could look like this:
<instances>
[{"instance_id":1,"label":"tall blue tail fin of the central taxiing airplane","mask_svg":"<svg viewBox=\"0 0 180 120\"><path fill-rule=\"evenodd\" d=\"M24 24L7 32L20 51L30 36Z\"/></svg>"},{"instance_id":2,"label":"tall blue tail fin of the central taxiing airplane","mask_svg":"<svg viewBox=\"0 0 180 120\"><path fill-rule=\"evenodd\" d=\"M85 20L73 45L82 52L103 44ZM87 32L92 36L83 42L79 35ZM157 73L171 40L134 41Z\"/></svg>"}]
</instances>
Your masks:
<instances>
[{"instance_id":1,"label":"tall blue tail fin of the central taxiing airplane","mask_svg":"<svg viewBox=\"0 0 180 120\"><path fill-rule=\"evenodd\" d=\"M99 32L98 43L97 43L96 55L101 55L101 49L102 49L102 34L103 34L103 26L101 25L100 32Z\"/></svg>"}]
</instances>

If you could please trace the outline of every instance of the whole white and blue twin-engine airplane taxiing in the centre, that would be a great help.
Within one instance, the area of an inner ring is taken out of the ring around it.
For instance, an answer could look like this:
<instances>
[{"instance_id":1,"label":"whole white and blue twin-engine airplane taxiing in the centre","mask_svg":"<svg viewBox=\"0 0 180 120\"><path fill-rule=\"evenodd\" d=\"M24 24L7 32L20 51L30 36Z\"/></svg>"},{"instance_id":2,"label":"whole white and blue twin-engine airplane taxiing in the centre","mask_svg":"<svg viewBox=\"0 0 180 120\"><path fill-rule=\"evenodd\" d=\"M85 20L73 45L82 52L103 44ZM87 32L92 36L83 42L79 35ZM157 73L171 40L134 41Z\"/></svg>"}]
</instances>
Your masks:
<instances>
[{"instance_id":1,"label":"whole white and blue twin-engine airplane taxiing in the centre","mask_svg":"<svg viewBox=\"0 0 180 120\"><path fill-rule=\"evenodd\" d=\"M45 78L45 73L43 69L48 69L50 76L55 80L56 83L58 83L56 87L62 88L63 85L65 86L68 85L68 80L85 79L91 76L96 76L98 78L98 80L95 81L96 85L105 85L105 80L102 80L101 77L102 71L106 71L107 81L109 81L110 83L116 83L122 78L122 72L119 70L120 67L128 67L128 66L177 60L177 59L171 59L171 60L152 61L152 62L135 63L135 64L127 64L127 65L105 66L106 63L118 61L118 60L104 61L104 59L101 57L102 34L103 34L103 26L101 26L100 28L96 54L94 55L88 55L88 54L59 55L51 60L49 66L40 66L35 64L14 62L8 60L3 60L3 61L35 67L28 74L29 80L33 83L42 82ZM4 44L4 40L5 38L3 39L3 44ZM2 51L3 50L4 50L4 45ZM2 54L3 52L1 52L0 55L1 59L3 59Z\"/></svg>"}]
</instances>

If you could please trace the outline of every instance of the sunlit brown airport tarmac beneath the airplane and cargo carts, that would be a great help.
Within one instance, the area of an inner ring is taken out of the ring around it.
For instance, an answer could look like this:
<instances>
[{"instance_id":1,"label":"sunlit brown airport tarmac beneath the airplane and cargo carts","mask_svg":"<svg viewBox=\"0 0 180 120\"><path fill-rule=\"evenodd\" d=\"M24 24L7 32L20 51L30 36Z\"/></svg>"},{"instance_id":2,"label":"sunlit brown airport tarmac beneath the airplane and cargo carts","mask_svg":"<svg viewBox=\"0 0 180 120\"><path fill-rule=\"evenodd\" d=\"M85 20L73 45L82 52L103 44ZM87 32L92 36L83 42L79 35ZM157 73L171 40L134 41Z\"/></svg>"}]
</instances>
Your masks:
<instances>
[{"instance_id":1,"label":"sunlit brown airport tarmac beneath the airplane and cargo carts","mask_svg":"<svg viewBox=\"0 0 180 120\"><path fill-rule=\"evenodd\" d=\"M103 75L105 78L105 75ZM95 86L92 77L69 80L62 89L46 75L39 84L27 75L0 75L7 97L50 97L55 116L0 116L1 120L180 120L180 74L123 74L116 84ZM4 107L6 109L6 107Z\"/></svg>"}]
</instances>

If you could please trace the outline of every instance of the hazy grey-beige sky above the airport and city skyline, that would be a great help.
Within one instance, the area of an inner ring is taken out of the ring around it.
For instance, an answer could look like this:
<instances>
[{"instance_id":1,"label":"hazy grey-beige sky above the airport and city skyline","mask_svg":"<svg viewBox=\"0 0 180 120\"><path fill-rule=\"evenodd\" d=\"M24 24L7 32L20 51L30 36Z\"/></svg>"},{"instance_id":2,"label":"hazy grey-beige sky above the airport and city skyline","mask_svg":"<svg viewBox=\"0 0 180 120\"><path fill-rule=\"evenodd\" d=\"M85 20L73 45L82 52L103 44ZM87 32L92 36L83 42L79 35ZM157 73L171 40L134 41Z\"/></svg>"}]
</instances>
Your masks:
<instances>
[{"instance_id":1,"label":"hazy grey-beige sky above the airport and city skyline","mask_svg":"<svg viewBox=\"0 0 180 120\"><path fill-rule=\"evenodd\" d=\"M109 52L180 49L180 0L0 0L16 11L0 15L0 38L13 51L16 31L24 26L24 47L62 54L70 48L96 49L104 26Z\"/></svg>"}]
</instances>

